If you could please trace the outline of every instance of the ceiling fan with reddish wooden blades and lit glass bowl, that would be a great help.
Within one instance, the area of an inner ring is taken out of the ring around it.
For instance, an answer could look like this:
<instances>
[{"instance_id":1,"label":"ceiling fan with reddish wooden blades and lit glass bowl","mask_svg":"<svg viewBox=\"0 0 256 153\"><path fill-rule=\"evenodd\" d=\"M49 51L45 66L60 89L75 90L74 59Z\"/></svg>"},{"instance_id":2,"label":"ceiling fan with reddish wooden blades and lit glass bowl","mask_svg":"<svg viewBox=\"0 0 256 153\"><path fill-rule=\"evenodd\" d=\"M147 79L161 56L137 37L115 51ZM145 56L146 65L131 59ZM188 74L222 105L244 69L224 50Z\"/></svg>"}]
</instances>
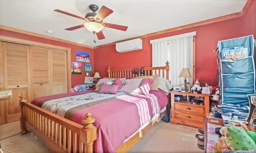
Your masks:
<instances>
[{"instance_id":1,"label":"ceiling fan with reddish wooden blades and lit glass bowl","mask_svg":"<svg viewBox=\"0 0 256 153\"><path fill-rule=\"evenodd\" d=\"M81 24L81 25L75 26L75 27L71 27L71 28L67 28L65 30L72 31L72 30L76 30L76 29L85 27L88 31L94 33L94 43L96 43L95 33L99 40L105 39L105 36L101 31L104 27L122 30L122 31L127 30L128 27L126 27L126 26L120 26L117 24L102 22L102 20L104 18L109 16L111 13L113 13L113 11L110 10L108 7L102 6L99 10L99 7L97 5L91 4L91 5L89 5L89 8L93 12L86 13L85 17L80 17L80 16L77 16L77 15L74 15L74 14L71 14L68 12L61 11L61 10L54 10L54 11L87 21L84 24ZM99 12L96 13L96 11L98 11L98 10L99 10Z\"/></svg>"}]
</instances>

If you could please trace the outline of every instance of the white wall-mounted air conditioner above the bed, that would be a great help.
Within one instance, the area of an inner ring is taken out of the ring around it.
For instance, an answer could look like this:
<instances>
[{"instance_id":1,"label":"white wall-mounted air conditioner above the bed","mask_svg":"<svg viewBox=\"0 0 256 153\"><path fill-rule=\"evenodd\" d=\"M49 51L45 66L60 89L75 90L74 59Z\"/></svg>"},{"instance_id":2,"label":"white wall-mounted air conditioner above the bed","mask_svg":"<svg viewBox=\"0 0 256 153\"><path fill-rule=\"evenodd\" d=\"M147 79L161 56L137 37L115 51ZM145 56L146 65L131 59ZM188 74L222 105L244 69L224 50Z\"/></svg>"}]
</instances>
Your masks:
<instances>
[{"instance_id":1,"label":"white wall-mounted air conditioner above the bed","mask_svg":"<svg viewBox=\"0 0 256 153\"><path fill-rule=\"evenodd\" d=\"M116 51L120 53L139 49L142 49L142 39L140 38L124 41L121 43L116 43Z\"/></svg>"}]
</instances>

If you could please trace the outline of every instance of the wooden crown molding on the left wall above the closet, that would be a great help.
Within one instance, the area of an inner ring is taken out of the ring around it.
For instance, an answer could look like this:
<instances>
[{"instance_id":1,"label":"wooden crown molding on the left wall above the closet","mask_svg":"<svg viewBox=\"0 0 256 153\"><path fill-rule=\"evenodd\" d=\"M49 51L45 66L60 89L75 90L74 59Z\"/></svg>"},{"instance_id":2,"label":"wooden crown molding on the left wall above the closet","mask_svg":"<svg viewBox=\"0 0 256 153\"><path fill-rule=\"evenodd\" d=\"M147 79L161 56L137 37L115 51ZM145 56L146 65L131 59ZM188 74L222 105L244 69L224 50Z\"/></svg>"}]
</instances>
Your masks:
<instances>
[{"instance_id":1,"label":"wooden crown molding on the left wall above the closet","mask_svg":"<svg viewBox=\"0 0 256 153\"><path fill-rule=\"evenodd\" d=\"M94 47L91 47L91 46L87 46L87 45L83 45L83 44L79 44L79 43L75 43L75 42L72 42L72 41L63 40L63 39L59 39L59 38L55 38L55 37L51 37L51 36L46 36L46 35L30 32L30 31L26 31L26 30L20 30L20 29L8 27L8 26L0 25L0 29L8 30L8 31L13 31L13 32L18 32L18 33L22 33L22 34L27 34L27 35L35 36L35 37L55 40L55 41L59 41L59 42L62 42L62 43L67 43L67 44L72 44L72 45L77 45L77 46L82 46L82 47L94 49Z\"/></svg>"}]
</instances>

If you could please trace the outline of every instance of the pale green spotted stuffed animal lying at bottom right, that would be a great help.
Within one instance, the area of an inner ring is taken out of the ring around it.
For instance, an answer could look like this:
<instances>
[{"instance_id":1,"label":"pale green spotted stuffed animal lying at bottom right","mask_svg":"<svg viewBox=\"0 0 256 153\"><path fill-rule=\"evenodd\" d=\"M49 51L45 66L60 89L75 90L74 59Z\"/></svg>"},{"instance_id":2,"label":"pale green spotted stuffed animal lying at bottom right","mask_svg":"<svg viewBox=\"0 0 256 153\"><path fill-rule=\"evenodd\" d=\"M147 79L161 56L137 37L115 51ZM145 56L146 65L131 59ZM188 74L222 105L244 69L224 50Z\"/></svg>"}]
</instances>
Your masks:
<instances>
[{"instance_id":1,"label":"pale green spotted stuffed animal lying at bottom right","mask_svg":"<svg viewBox=\"0 0 256 153\"><path fill-rule=\"evenodd\" d=\"M237 126L228 125L225 133L225 141L233 151L256 149L253 139Z\"/></svg>"}]
</instances>

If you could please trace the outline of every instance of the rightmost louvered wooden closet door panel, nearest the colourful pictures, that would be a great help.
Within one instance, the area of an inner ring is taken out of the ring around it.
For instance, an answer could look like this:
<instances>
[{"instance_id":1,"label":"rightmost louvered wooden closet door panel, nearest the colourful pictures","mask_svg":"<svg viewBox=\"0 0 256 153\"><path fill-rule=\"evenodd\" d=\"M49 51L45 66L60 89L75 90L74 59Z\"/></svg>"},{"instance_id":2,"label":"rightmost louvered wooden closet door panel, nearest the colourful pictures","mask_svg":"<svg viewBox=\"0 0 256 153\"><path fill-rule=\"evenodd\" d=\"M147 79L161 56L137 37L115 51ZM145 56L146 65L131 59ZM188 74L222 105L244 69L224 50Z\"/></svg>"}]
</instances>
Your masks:
<instances>
[{"instance_id":1,"label":"rightmost louvered wooden closet door panel, nearest the colourful pictures","mask_svg":"<svg viewBox=\"0 0 256 153\"><path fill-rule=\"evenodd\" d=\"M51 64L52 95L67 93L67 52L52 50Z\"/></svg>"}]
</instances>

